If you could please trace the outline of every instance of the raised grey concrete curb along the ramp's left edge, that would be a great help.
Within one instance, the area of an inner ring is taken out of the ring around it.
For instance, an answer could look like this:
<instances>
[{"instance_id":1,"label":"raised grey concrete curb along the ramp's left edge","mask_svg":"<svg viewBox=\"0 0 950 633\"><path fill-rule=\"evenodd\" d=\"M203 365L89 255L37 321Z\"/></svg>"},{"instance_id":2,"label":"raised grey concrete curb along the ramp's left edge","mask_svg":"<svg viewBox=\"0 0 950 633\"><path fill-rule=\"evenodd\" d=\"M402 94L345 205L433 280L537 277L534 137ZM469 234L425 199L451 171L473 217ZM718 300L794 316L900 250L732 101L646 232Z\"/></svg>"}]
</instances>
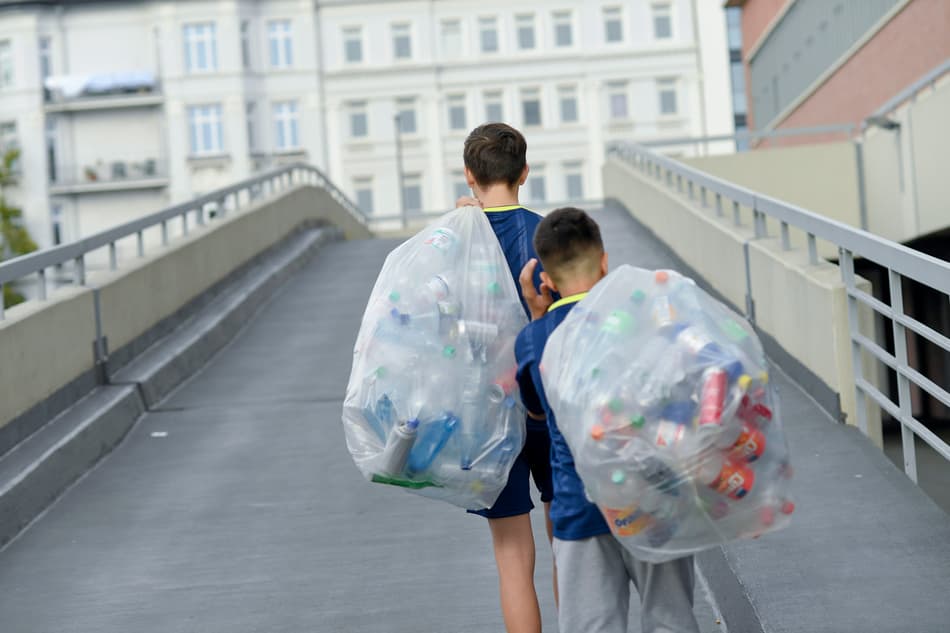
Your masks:
<instances>
[{"instance_id":1,"label":"raised grey concrete curb along the ramp's left edge","mask_svg":"<svg viewBox=\"0 0 950 633\"><path fill-rule=\"evenodd\" d=\"M0 548L115 448L135 423L198 371L324 244L332 227L294 233L259 265L99 386L0 457Z\"/></svg>"}]
</instances>

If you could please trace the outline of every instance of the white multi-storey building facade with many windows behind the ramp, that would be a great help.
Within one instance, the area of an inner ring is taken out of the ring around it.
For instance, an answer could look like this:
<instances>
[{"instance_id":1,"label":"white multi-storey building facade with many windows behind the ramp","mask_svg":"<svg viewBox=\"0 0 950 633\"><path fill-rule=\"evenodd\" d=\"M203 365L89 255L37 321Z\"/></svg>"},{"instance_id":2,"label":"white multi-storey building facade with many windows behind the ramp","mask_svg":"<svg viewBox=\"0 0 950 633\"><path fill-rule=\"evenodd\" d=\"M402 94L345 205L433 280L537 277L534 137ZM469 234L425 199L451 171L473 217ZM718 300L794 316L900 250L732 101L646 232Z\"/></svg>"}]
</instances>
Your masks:
<instances>
[{"instance_id":1,"label":"white multi-storey building facade with many windows behind the ramp","mask_svg":"<svg viewBox=\"0 0 950 633\"><path fill-rule=\"evenodd\" d=\"M719 4L0 0L8 193L41 246L290 161L370 213L434 211L500 120L528 139L527 204L597 199L611 140L732 132Z\"/></svg>"}]
</instances>

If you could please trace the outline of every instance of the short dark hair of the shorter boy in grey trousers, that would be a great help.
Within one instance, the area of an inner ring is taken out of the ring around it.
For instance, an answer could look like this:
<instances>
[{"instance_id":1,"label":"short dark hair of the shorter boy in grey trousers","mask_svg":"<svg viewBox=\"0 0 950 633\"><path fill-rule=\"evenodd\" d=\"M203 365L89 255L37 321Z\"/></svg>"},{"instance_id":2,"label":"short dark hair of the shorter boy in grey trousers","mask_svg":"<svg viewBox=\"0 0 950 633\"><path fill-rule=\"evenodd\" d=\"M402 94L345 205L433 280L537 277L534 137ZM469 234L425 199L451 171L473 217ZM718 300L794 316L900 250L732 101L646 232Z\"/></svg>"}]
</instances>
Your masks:
<instances>
[{"instance_id":1,"label":"short dark hair of the shorter boy in grey trousers","mask_svg":"<svg viewBox=\"0 0 950 633\"><path fill-rule=\"evenodd\" d=\"M560 273L589 259L600 262L604 241L594 219L576 207L555 209L534 232L534 250L541 266L555 281Z\"/></svg>"}]
</instances>

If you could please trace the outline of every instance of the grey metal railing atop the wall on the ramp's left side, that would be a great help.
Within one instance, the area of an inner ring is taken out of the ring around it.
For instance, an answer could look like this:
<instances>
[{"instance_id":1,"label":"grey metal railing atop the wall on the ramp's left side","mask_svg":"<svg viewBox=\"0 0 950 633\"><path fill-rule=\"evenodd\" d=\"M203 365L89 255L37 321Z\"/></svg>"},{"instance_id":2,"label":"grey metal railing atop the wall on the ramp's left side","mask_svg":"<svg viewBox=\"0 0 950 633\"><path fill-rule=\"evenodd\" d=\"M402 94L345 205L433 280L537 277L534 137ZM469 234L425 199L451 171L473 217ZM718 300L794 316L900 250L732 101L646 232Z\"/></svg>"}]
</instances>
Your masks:
<instances>
[{"instance_id":1,"label":"grey metal railing atop the wall on the ramp's left side","mask_svg":"<svg viewBox=\"0 0 950 633\"><path fill-rule=\"evenodd\" d=\"M72 265L74 267L74 283L81 286L86 285L86 257L93 251L108 248L109 269L116 270L119 266L116 243L119 240L135 236L137 242L136 253L141 258L145 256L144 233L146 229L160 227L161 245L164 247L168 245L170 240L169 228L172 222L181 223L181 233L185 236L188 235L192 226L189 218L196 225L204 226L208 222L214 221L216 218L223 218L228 213L236 212L241 207L260 200L262 197L273 196L299 185L313 185L324 189L361 224L367 224L363 212L319 169L300 163L287 165L69 244L54 246L0 262L0 296L3 295L5 285L26 279L31 275L37 275L39 280L37 298L40 301L45 301L47 298L47 270L50 268ZM211 211L214 213L211 213ZM4 307L3 301L0 300L0 321L3 319Z\"/></svg>"}]
</instances>

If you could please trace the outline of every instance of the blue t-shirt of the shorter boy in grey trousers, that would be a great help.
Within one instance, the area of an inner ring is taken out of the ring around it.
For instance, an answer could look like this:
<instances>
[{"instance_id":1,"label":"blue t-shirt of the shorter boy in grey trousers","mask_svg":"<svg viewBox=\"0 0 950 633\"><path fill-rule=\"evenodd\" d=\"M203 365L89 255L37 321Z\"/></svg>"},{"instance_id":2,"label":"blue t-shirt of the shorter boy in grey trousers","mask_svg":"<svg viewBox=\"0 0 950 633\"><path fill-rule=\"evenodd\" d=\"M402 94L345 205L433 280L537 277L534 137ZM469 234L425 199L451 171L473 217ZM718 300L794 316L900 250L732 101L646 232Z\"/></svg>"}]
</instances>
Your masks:
<instances>
[{"instance_id":1,"label":"blue t-shirt of the shorter boy in grey trousers","mask_svg":"<svg viewBox=\"0 0 950 633\"><path fill-rule=\"evenodd\" d=\"M547 314L525 326L515 341L521 399L529 411L544 412L551 433L551 474L554 479L551 522L554 524L554 536L562 541L610 533L600 510L584 494L584 484L574 469L574 457L557 428L557 420L541 383L541 356L548 337L580 299L581 296L575 295L566 297L561 305L552 305Z\"/></svg>"}]
</instances>

